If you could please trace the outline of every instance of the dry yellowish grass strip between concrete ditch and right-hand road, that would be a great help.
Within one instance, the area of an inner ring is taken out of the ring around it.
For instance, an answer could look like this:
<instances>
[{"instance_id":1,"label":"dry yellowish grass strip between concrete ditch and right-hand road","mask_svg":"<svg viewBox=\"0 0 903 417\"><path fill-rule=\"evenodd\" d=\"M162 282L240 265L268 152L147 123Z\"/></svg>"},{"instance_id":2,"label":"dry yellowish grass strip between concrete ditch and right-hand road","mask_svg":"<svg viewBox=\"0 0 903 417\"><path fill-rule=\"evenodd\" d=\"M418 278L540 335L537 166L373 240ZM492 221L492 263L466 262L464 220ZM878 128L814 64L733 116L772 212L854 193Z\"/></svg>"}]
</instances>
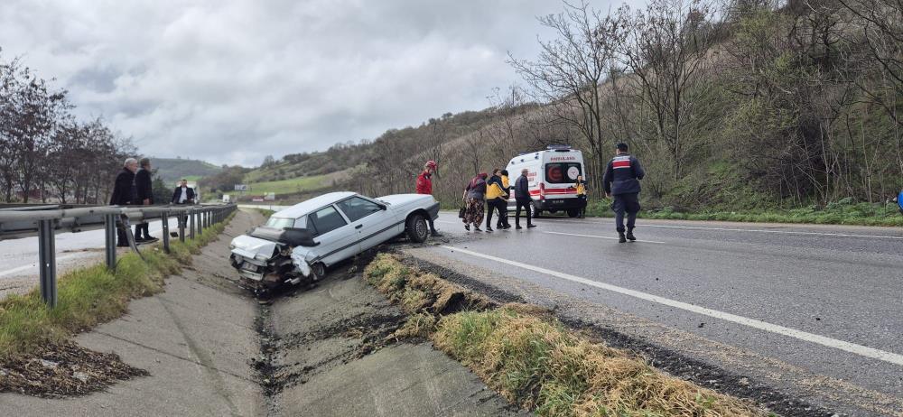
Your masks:
<instances>
[{"instance_id":1,"label":"dry yellowish grass strip between concrete ditch and right-hand road","mask_svg":"<svg viewBox=\"0 0 903 417\"><path fill-rule=\"evenodd\" d=\"M432 340L509 402L539 415L767 415L666 375L628 351L591 342L541 308L495 306L393 255L378 255L364 278L410 314L397 338Z\"/></svg>"}]
</instances>

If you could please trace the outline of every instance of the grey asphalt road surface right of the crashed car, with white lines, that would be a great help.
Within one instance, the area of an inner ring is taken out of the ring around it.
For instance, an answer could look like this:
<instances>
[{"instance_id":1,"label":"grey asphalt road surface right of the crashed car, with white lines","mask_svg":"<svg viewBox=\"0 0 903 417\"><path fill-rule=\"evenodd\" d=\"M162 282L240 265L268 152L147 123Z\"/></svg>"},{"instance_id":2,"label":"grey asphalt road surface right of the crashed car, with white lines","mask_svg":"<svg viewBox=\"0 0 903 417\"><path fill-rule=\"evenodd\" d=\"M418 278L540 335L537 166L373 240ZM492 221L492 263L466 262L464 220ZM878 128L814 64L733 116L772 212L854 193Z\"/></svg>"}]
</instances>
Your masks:
<instances>
[{"instance_id":1,"label":"grey asphalt road surface right of the crashed car, with white lines","mask_svg":"<svg viewBox=\"0 0 903 417\"><path fill-rule=\"evenodd\" d=\"M513 218L512 218L513 224ZM903 229L541 218L437 254L504 272L903 402Z\"/></svg>"}]
</instances>

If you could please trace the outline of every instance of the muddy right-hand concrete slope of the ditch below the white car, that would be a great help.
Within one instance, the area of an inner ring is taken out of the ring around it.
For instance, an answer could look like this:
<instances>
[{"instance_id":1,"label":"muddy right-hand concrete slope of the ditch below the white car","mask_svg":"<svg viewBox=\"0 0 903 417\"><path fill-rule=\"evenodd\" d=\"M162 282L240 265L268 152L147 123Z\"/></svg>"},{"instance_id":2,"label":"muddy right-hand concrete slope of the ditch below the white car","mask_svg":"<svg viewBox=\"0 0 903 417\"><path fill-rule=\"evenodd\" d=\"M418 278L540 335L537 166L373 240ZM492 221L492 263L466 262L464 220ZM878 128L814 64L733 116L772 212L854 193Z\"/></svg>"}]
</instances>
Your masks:
<instances>
[{"instance_id":1,"label":"muddy right-hand concrete slope of the ditch below the white car","mask_svg":"<svg viewBox=\"0 0 903 417\"><path fill-rule=\"evenodd\" d=\"M405 313L359 271L261 301L250 360L267 415L528 415L423 340L398 340Z\"/></svg>"}]
</instances>

